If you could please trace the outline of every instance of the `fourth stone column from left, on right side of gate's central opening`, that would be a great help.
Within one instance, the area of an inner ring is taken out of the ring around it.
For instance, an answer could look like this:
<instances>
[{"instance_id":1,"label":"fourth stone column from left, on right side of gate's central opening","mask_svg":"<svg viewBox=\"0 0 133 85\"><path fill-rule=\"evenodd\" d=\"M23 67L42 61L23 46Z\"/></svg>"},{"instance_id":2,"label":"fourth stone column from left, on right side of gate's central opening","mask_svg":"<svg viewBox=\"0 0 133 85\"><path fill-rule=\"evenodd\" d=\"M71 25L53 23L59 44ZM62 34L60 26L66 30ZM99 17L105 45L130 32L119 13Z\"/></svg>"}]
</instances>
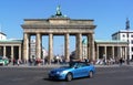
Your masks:
<instances>
[{"instance_id":1,"label":"fourth stone column from left, on right side of gate's central opening","mask_svg":"<svg viewBox=\"0 0 133 85\"><path fill-rule=\"evenodd\" d=\"M65 34L64 42L65 42L65 49L64 49L65 50L64 51L65 55L64 56L65 56L65 61L69 62L70 61L70 54L69 54L69 33Z\"/></svg>"}]
</instances>

